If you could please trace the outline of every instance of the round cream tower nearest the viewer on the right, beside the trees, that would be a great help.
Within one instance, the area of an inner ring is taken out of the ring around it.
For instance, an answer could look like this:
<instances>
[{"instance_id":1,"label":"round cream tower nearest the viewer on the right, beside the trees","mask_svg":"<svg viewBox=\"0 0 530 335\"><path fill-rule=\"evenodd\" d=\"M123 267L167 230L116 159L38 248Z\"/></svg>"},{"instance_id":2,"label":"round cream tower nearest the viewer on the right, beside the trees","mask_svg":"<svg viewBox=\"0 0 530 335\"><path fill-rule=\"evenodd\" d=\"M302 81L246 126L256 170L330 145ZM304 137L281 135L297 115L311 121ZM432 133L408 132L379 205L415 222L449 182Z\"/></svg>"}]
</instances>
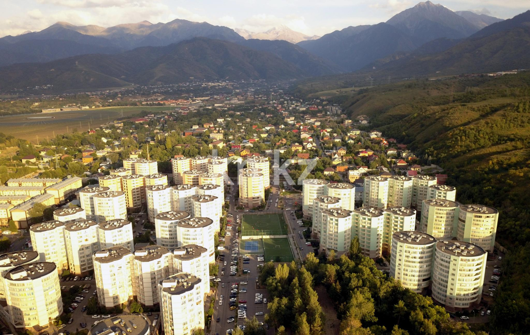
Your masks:
<instances>
[{"instance_id":1,"label":"round cream tower nearest the viewer on the right, beside the trees","mask_svg":"<svg viewBox=\"0 0 530 335\"><path fill-rule=\"evenodd\" d=\"M470 309L482 296L488 253L473 243L439 241L432 268L432 300L449 311Z\"/></svg>"}]
</instances>

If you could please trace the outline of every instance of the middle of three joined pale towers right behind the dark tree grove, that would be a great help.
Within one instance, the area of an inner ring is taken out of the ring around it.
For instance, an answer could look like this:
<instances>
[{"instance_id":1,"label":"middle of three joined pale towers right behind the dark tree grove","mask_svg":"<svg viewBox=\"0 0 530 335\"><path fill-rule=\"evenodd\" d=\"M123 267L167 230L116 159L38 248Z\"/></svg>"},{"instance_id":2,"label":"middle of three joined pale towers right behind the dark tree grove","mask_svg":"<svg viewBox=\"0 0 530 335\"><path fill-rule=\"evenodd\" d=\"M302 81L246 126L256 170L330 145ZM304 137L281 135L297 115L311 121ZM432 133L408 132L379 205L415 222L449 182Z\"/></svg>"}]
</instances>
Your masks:
<instances>
[{"instance_id":1,"label":"middle of three joined pale towers right behind the dark tree grove","mask_svg":"<svg viewBox=\"0 0 530 335\"><path fill-rule=\"evenodd\" d=\"M375 207L360 207L351 213L351 237L359 238L359 248L370 258L381 257L385 215Z\"/></svg>"}]
</instances>

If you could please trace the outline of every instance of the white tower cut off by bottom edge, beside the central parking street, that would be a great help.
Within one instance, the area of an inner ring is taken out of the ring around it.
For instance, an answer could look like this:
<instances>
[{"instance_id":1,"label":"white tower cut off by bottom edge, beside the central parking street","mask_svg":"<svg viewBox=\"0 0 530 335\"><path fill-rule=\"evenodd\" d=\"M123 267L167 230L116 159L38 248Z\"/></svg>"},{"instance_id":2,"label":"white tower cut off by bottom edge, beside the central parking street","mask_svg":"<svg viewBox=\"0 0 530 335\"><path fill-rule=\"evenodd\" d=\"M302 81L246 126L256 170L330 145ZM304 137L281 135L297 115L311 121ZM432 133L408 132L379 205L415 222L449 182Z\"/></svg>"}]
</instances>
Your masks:
<instances>
[{"instance_id":1,"label":"white tower cut off by bottom edge, beside the central parking street","mask_svg":"<svg viewBox=\"0 0 530 335\"><path fill-rule=\"evenodd\" d=\"M158 284L160 311L166 335L192 335L204 329L202 280L187 273L167 277Z\"/></svg>"}]
</instances>

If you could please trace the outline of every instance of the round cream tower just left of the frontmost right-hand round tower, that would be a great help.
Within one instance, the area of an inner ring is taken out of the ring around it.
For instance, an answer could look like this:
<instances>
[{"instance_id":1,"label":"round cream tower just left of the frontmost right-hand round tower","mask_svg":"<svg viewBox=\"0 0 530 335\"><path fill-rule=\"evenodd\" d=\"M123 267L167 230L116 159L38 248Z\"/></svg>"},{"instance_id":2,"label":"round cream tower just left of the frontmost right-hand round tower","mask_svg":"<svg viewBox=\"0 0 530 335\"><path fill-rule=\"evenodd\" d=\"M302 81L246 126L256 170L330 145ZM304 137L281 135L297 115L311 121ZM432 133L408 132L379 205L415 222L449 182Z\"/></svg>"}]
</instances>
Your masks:
<instances>
[{"instance_id":1,"label":"round cream tower just left of the frontmost right-hand round tower","mask_svg":"<svg viewBox=\"0 0 530 335\"><path fill-rule=\"evenodd\" d=\"M431 283L435 245L434 237L420 231L393 233L390 276L411 291L425 291Z\"/></svg>"}]
</instances>

